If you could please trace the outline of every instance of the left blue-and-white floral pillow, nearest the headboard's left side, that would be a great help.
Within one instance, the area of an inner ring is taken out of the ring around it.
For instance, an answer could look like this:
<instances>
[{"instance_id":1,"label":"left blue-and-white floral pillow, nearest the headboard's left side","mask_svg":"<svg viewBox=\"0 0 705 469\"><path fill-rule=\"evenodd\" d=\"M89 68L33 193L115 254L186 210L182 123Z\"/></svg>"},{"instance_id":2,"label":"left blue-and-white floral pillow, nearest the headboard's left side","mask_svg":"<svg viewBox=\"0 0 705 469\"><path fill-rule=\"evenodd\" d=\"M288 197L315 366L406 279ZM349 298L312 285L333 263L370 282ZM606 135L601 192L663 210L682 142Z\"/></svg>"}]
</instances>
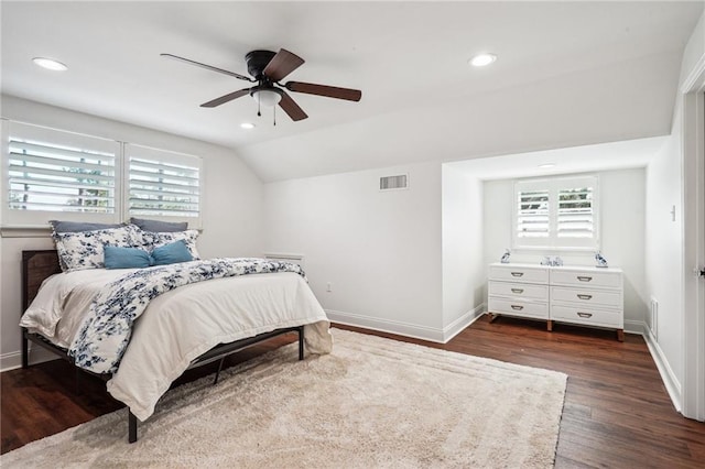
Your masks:
<instances>
[{"instance_id":1,"label":"left blue-and-white floral pillow, nearest the headboard's left side","mask_svg":"<svg viewBox=\"0 0 705 469\"><path fill-rule=\"evenodd\" d=\"M134 225L105 230L52 233L64 272L105 269L104 246L140 248L142 230Z\"/></svg>"}]
</instances>

